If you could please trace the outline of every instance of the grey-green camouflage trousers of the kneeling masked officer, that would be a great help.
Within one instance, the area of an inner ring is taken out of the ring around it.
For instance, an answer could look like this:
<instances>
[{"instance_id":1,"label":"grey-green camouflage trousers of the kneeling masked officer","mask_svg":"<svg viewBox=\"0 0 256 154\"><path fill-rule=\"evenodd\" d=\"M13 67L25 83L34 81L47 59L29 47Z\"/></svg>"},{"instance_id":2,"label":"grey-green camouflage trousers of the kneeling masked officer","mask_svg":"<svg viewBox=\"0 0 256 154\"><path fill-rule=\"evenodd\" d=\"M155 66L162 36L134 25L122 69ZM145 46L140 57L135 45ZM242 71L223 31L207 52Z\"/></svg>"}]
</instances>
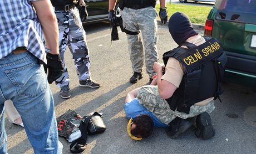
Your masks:
<instances>
[{"instance_id":1,"label":"grey-green camouflage trousers of the kneeling masked officer","mask_svg":"<svg viewBox=\"0 0 256 154\"><path fill-rule=\"evenodd\" d=\"M176 116L182 119L188 119L189 117L198 116L203 112L210 113L215 109L214 101L212 100L204 106L192 105L189 114L173 111L170 109L168 102L160 96L157 86L151 85L142 86L138 91L137 98L140 104L146 107L147 110L152 112L164 124L169 124Z\"/></svg>"}]
</instances>

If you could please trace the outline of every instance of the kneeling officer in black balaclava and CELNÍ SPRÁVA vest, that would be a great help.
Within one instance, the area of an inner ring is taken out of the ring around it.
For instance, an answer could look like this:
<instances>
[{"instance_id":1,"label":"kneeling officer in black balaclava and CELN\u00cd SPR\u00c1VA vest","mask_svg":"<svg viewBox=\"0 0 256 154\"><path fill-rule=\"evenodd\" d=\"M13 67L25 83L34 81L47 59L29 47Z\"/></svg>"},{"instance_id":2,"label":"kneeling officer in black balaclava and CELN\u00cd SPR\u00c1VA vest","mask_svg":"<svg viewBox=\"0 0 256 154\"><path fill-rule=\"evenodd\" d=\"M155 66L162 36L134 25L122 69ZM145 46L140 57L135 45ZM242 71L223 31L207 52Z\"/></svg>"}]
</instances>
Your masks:
<instances>
[{"instance_id":1,"label":"kneeling officer in black balaclava and CELN\u00cd SPR\u00c1VA vest","mask_svg":"<svg viewBox=\"0 0 256 154\"><path fill-rule=\"evenodd\" d=\"M227 57L218 40L195 32L186 14L175 12L168 26L171 37L179 46L164 53L164 65L154 63L157 78L152 81L159 92L154 97L160 95L163 104L170 107L160 111L166 115L165 121L170 121L166 132L170 138L176 138L190 128L188 119L194 118L195 135L204 140L211 138L215 130L209 113L215 109L214 100L222 93L220 83ZM146 89L154 91L155 88ZM151 93L143 95L149 95L145 100L141 99L144 104L154 98Z\"/></svg>"}]
</instances>

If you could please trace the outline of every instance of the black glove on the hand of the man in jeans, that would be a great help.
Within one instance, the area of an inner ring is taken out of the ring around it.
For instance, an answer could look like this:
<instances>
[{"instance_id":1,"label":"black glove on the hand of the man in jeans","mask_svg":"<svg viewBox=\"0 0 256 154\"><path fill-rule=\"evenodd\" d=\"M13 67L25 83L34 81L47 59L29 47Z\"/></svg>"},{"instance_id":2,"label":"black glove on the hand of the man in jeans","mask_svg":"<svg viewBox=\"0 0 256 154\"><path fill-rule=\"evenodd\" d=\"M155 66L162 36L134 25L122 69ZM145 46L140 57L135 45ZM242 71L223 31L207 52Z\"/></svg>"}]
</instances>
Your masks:
<instances>
[{"instance_id":1,"label":"black glove on the hand of the man in jeans","mask_svg":"<svg viewBox=\"0 0 256 154\"><path fill-rule=\"evenodd\" d=\"M62 60L59 54L50 54L46 55L47 65L44 65L45 71L47 73L48 68L48 83L51 84L56 79L60 78L63 73Z\"/></svg>"}]
</instances>

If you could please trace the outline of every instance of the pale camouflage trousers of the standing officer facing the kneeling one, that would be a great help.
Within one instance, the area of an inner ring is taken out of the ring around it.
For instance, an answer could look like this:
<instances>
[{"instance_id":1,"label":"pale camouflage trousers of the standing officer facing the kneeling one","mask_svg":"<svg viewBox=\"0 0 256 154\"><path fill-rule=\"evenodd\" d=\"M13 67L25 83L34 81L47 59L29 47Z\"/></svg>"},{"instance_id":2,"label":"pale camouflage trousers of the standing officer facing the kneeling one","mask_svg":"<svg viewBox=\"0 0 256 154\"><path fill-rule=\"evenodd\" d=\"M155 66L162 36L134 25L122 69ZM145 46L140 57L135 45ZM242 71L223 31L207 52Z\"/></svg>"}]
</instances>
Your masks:
<instances>
[{"instance_id":1,"label":"pale camouflage trousers of the standing officer facing the kneeling one","mask_svg":"<svg viewBox=\"0 0 256 154\"><path fill-rule=\"evenodd\" d=\"M142 71L145 48L146 72L151 78L155 74L153 64L155 61L158 61L156 48L158 40L156 9L153 7L142 9L131 9L125 7L121 14L124 28L131 32L139 33L139 35L127 34L132 70L134 72Z\"/></svg>"}]
</instances>

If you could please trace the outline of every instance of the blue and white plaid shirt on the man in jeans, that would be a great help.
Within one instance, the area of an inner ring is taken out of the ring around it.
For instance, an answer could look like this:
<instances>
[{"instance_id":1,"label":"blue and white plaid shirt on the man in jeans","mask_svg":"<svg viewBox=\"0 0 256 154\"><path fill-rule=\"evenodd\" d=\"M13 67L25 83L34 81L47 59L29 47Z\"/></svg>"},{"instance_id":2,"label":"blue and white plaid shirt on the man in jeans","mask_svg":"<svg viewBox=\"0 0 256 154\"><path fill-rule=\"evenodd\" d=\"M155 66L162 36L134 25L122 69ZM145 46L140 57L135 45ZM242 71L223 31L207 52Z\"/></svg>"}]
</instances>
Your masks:
<instances>
[{"instance_id":1,"label":"blue and white plaid shirt on the man in jeans","mask_svg":"<svg viewBox=\"0 0 256 154\"><path fill-rule=\"evenodd\" d=\"M46 63L42 27L30 1L40 0L0 0L0 59L26 47Z\"/></svg>"}]
</instances>

